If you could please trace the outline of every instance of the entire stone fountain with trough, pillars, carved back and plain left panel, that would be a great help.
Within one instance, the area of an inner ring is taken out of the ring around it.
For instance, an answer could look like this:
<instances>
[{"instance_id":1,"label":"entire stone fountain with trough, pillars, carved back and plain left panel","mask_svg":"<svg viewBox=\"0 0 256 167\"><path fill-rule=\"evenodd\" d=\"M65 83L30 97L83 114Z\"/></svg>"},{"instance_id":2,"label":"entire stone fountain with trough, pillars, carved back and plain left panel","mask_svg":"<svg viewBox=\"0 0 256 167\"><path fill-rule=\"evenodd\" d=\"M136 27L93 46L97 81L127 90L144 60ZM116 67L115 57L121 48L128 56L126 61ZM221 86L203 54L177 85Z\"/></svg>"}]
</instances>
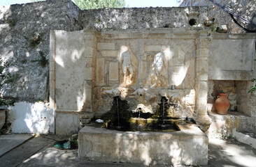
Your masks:
<instances>
[{"instance_id":1,"label":"entire stone fountain with trough, pillars, carved back and plain left panel","mask_svg":"<svg viewBox=\"0 0 256 167\"><path fill-rule=\"evenodd\" d=\"M207 164L208 33L52 31L50 38L56 134L79 131L80 159Z\"/></svg>"}]
</instances>

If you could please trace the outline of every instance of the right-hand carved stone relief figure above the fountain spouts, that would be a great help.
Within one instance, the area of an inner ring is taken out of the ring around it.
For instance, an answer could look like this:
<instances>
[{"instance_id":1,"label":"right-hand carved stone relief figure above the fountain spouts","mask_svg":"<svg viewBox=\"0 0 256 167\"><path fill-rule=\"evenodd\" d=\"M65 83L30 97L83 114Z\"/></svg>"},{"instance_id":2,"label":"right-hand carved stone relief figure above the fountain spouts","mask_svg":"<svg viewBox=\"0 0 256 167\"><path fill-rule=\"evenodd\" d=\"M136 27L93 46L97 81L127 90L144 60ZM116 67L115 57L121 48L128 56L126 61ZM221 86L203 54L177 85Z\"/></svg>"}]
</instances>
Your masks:
<instances>
[{"instance_id":1,"label":"right-hand carved stone relief figure above the fountain spouts","mask_svg":"<svg viewBox=\"0 0 256 167\"><path fill-rule=\"evenodd\" d=\"M150 88L164 87L167 84L168 62L164 52L155 55L150 72Z\"/></svg>"}]
</instances>

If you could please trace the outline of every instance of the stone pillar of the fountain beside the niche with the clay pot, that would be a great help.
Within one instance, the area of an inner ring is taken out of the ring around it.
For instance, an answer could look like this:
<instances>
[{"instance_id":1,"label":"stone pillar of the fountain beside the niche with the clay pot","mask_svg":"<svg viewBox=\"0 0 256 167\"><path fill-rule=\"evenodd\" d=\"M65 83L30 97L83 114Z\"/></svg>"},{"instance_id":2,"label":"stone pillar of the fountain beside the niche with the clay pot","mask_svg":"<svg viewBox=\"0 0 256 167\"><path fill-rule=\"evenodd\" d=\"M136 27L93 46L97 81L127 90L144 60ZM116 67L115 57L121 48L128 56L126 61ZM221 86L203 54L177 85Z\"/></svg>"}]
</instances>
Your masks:
<instances>
[{"instance_id":1,"label":"stone pillar of the fountain beside the niche with the clay pot","mask_svg":"<svg viewBox=\"0 0 256 167\"><path fill-rule=\"evenodd\" d=\"M207 115L209 38L206 31L196 39L196 106L194 118L203 132L211 125Z\"/></svg>"}]
</instances>

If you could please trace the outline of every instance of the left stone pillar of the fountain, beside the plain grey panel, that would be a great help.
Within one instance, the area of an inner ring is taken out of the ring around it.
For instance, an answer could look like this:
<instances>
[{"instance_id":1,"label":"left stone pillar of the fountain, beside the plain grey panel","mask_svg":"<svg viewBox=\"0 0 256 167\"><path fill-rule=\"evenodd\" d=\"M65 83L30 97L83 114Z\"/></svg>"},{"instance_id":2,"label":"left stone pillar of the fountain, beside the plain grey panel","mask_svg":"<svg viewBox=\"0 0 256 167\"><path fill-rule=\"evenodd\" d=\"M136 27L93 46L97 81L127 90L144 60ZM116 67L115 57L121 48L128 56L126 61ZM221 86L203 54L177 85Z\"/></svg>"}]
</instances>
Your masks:
<instances>
[{"instance_id":1,"label":"left stone pillar of the fountain, beside the plain grey panel","mask_svg":"<svg viewBox=\"0 0 256 167\"><path fill-rule=\"evenodd\" d=\"M86 102L80 114L80 122L86 125L94 117L92 111L92 89L94 88L95 67L96 67L97 37L94 31L85 31L85 81L84 92Z\"/></svg>"}]
</instances>

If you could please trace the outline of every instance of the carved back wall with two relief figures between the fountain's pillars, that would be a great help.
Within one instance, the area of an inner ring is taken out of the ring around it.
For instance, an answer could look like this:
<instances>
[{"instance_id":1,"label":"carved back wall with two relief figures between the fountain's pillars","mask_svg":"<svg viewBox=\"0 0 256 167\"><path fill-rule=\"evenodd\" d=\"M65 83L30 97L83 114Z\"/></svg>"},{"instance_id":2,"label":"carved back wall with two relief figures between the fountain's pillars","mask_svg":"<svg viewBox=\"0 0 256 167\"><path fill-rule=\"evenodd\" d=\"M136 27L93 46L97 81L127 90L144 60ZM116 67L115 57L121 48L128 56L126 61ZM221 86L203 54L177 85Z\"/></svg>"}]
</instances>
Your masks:
<instances>
[{"instance_id":1,"label":"carved back wall with two relief figures between the fountain's pillars","mask_svg":"<svg viewBox=\"0 0 256 167\"><path fill-rule=\"evenodd\" d=\"M115 96L127 100L131 110L143 104L151 112L159 107L160 97L166 96L180 104L180 111L173 117L192 117L196 32L181 38L182 32L157 29L101 33L97 38L97 81L93 90L92 109L96 115L109 111ZM176 85L176 90L171 90L171 85Z\"/></svg>"}]
</instances>

